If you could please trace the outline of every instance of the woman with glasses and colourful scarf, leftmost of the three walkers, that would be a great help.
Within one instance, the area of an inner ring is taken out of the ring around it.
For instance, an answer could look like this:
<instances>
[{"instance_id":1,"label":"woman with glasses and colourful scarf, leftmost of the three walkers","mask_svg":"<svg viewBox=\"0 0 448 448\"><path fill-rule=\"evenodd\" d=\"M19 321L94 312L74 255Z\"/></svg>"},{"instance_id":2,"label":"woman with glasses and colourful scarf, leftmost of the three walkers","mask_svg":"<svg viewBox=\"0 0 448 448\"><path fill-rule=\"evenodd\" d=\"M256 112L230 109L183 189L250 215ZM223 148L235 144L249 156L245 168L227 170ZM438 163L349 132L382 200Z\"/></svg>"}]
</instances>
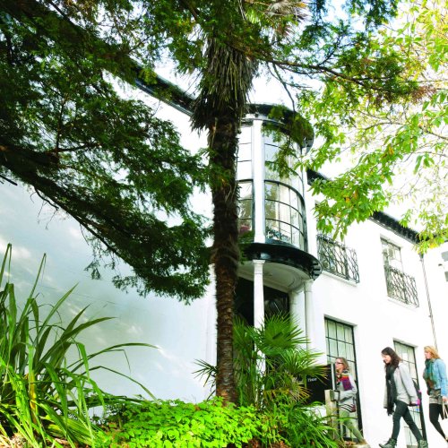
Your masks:
<instances>
[{"instance_id":1,"label":"woman with glasses and colourful scarf, leftmost of the three walkers","mask_svg":"<svg viewBox=\"0 0 448 448\"><path fill-rule=\"evenodd\" d=\"M349 373L349 363L346 358L336 358L334 363L336 368L336 401L339 406L339 416L342 425L346 426L349 431L358 439L358 444L366 445L366 440L356 426L350 413L356 410L357 386L353 377Z\"/></svg>"}]
</instances>

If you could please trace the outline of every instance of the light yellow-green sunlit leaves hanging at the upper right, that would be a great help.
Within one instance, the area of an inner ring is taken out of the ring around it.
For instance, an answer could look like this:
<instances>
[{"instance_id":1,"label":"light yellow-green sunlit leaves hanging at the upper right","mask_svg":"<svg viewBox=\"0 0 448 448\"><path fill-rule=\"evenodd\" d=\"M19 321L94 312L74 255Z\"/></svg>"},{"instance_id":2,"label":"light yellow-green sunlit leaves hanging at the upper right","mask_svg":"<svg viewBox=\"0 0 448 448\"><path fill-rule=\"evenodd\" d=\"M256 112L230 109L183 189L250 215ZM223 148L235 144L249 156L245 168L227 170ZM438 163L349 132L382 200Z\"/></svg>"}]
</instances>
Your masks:
<instances>
[{"instance_id":1,"label":"light yellow-green sunlit leaves hanging at the upper right","mask_svg":"<svg viewBox=\"0 0 448 448\"><path fill-rule=\"evenodd\" d=\"M446 4L407 1L401 11L395 28L372 34L353 55L367 65L381 56L383 66L366 70L378 70L377 82L407 80L401 94L336 78L320 93L301 94L321 137L302 166L332 169L332 179L312 185L322 198L315 210L320 230L344 235L351 223L392 206L401 210L401 224L418 229L424 253L448 237Z\"/></svg>"}]
</instances>

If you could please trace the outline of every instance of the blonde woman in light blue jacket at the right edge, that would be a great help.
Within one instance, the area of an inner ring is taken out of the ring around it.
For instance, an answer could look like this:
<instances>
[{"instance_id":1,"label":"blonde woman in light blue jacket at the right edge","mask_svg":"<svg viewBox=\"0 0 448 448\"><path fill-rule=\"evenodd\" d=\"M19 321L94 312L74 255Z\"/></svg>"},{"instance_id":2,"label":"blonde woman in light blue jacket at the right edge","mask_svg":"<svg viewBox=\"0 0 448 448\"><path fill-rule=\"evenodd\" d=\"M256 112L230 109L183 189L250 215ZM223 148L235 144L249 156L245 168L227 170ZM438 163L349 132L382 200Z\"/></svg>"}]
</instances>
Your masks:
<instances>
[{"instance_id":1,"label":"blonde woman in light blue jacket at the right edge","mask_svg":"<svg viewBox=\"0 0 448 448\"><path fill-rule=\"evenodd\" d=\"M444 434L444 430L439 423L439 417L442 416L443 407L448 405L448 384L446 380L446 366L444 361L439 357L437 350L426 345L425 347L425 370L423 378L426 381L426 389L429 395L429 420L448 442L448 435Z\"/></svg>"}]
</instances>

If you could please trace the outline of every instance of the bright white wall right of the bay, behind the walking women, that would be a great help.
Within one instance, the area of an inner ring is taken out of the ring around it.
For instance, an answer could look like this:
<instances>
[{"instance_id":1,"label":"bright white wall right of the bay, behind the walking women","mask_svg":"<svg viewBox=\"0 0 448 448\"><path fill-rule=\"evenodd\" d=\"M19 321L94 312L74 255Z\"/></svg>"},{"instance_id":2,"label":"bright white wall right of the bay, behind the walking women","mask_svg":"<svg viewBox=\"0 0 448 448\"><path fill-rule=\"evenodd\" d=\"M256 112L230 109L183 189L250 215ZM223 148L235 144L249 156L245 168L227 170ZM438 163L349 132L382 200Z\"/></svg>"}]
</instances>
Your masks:
<instances>
[{"instance_id":1,"label":"bright white wall right of the bay, behind the walking women","mask_svg":"<svg viewBox=\"0 0 448 448\"><path fill-rule=\"evenodd\" d=\"M314 199L306 197L308 238L310 251L316 254L316 229L313 219ZM419 306L401 304L387 296L383 272L381 237L401 247L403 271L416 279ZM435 345L430 318L422 263L413 246L401 236L371 220L349 229L344 244L356 250L360 282L343 280L323 271L314 281L314 325L316 334L314 348L326 351L324 341L325 317L354 327L355 349L358 367L359 397L366 440L371 446L387 440L392 433L392 418L383 409L384 370L381 350L394 340L415 347L419 383L426 386L421 377L424 369L423 348ZM435 249L425 255L426 280L437 346L442 358L448 361L448 330L446 325L447 289L444 271L438 265L440 251ZM424 393L423 409L429 446L441 447L443 440L435 432L427 413L427 396ZM401 426L402 427L402 426ZM401 430L399 448L406 446Z\"/></svg>"}]
</instances>

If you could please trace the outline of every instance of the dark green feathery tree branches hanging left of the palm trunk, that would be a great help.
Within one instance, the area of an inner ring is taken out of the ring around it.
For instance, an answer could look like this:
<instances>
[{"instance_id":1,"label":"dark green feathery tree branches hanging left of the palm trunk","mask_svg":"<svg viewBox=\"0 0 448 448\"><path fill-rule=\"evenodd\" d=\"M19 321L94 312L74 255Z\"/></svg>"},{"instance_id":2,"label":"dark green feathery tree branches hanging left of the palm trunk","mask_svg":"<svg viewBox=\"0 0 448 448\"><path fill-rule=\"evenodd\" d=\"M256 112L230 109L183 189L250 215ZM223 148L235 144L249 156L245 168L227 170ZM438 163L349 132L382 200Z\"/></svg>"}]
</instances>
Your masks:
<instances>
[{"instance_id":1,"label":"dark green feathery tree branches hanging left of the palm trunk","mask_svg":"<svg viewBox=\"0 0 448 448\"><path fill-rule=\"evenodd\" d=\"M87 230L94 277L119 257L134 269L116 270L119 288L201 296L208 231L189 202L205 182L201 159L112 76L134 85L130 48L135 58L157 56L160 36L142 47L150 24L127 2L47 8L28 0L0 9L0 174Z\"/></svg>"}]
</instances>

